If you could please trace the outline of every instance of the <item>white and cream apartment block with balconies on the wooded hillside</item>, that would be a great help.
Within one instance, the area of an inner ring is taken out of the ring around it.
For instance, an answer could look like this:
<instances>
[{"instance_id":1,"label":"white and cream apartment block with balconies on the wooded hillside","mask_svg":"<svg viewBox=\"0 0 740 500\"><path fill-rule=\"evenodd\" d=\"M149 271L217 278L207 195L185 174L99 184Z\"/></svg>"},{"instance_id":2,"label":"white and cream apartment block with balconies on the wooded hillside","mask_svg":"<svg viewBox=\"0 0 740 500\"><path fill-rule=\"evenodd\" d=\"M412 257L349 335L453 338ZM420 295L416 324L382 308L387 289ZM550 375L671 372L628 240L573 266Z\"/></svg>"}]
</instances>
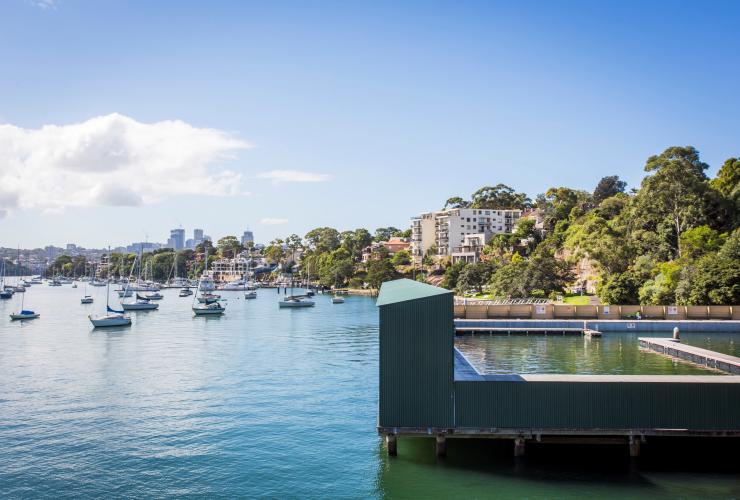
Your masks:
<instances>
[{"instance_id":1,"label":"white and cream apartment block with balconies on the wooded hillside","mask_svg":"<svg viewBox=\"0 0 740 500\"><path fill-rule=\"evenodd\" d=\"M421 214L411 219L411 254L419 260L435 245L438 257L469 253L472 247L482 248L494 234L511 233L521 214L521 210L486 208L452 208ZM467 236L473 238L468 238L466 245Z\"/></svg>"}]
</instances>

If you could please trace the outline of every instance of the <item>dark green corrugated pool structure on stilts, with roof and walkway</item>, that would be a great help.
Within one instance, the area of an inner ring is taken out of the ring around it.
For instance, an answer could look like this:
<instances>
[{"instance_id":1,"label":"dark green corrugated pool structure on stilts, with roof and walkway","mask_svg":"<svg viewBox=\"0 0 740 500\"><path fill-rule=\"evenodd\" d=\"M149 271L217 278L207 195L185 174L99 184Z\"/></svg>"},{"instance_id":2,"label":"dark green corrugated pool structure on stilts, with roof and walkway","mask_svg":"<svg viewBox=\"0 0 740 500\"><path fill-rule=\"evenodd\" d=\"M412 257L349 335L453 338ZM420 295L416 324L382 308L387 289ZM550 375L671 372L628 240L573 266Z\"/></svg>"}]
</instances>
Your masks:
<instances>
[{"instance_id":1,"label":"dark green corrugated pool structure on stilts, with roof and walkway","mask_svg":"<svg viewBox=\"0 0 740 500\"><path fill-rule=\"evenodd\" d=\"M508 439L515 456L528 442L621 442L632 457L651 436L740 438L738 375L488 375L454 344L458 330L473 327L589 326L608 334L624 330L621 321L599 319L598 328L583 320L456 321L452 292L412 280L383 283L377 306L377 431L390 455L405 436L434 439L439 456L448 439L460 438ZM627 329L665 331L671 323L634 321Z\"/></svg>"}]
</instances>

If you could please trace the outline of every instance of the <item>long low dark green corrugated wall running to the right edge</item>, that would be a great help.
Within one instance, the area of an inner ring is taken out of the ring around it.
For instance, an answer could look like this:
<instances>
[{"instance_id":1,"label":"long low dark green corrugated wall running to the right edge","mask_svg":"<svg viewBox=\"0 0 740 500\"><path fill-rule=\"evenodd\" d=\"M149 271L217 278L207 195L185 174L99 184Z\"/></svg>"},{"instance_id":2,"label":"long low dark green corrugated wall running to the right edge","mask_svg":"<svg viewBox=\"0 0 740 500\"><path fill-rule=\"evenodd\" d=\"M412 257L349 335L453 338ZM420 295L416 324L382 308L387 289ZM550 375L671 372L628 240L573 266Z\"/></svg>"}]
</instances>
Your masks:
<instances>
[{"instance_id":1,"label":"long low dark green corrugated wall running to the right edge","mask_svg":"<svg viewBox=\"0 0 740 500\"><path fill-rule=\"evenodd\" d=\"M455 386L457 427L740 427L740 384L486 381Z\"/></svg>"}]
</instances>

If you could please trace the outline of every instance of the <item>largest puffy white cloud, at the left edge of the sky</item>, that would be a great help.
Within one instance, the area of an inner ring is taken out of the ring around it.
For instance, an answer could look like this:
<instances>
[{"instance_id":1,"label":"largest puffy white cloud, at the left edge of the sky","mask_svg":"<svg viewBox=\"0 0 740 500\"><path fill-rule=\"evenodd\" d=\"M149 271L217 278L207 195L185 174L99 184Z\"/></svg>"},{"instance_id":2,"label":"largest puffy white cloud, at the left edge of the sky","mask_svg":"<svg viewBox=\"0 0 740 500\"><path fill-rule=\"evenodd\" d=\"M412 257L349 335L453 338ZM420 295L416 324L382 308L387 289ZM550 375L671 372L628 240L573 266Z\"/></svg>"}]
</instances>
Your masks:
<instances>
[{"instance_id":1,"label":"largest puffy white cloud, at the left edge of the sky","mask_svg":"<svg viewBox=\"0 0 740 500\"><path fill-rule=\"evenodd\" d=\"M0 124L0 214L245 194L241 174L221 164L248 147L220 130L117 113L38 129Z\"/></svg>"}]
</instances>

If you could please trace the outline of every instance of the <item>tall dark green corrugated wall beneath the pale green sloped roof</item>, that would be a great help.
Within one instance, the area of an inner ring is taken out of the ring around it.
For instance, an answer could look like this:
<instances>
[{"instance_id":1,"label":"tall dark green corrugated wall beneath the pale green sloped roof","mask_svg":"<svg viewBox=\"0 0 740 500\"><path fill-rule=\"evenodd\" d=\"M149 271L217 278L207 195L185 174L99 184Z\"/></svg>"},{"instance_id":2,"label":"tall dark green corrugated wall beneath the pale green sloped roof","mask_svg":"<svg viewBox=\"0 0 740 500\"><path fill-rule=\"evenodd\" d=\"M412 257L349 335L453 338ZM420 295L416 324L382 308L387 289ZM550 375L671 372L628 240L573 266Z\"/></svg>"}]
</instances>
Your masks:
<instances>
[{"instance_id":1,"label":"tall dark green corrugated wall beneath the pale green sloped roof","mask_svg":"<svg viewBox=\"0 0 740 500\"><path fill-rule=\"evenodd\" d=\"M380 307L378 425L454 425L454 338L451 294Z\"/></svg>"}]
</instances>

